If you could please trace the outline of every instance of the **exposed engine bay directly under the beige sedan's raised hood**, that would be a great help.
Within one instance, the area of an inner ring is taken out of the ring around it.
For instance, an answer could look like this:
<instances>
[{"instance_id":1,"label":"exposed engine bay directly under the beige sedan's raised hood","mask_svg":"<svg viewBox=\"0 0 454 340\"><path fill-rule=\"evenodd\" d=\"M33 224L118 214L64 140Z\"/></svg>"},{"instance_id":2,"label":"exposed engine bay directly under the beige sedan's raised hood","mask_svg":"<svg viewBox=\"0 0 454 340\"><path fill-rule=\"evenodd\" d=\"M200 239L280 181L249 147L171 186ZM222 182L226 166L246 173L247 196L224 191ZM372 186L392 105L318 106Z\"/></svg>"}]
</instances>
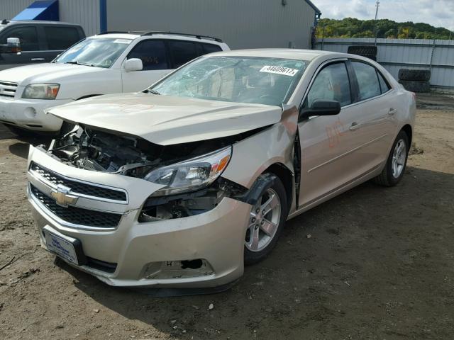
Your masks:
<instances>
[{"instance_id":1,"label":"exposed engine bay directly under the beige sedan's raised hood","mask_svg":"<svg viewBox=\"0 0 454 340\"><path fill-rule=\"evenodd\" d=\"M52 140L48 152L79 169L143 178L157 167L211 152L231 142L222 139L164 147L140 137L77 125Z\"/></svg>"}]
</instances>

